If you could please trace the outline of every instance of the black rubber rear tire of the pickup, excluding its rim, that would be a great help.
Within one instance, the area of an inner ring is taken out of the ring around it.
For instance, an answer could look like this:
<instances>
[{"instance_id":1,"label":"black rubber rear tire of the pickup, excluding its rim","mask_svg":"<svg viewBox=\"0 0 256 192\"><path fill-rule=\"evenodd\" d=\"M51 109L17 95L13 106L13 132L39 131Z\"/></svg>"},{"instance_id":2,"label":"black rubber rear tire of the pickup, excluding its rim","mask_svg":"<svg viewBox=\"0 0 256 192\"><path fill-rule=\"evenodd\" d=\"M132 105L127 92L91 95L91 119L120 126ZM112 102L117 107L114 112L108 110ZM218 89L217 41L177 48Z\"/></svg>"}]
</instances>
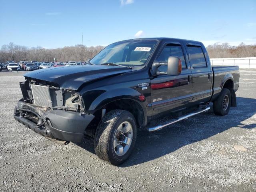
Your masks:
<instances>
[{"instance_id":1,"label":"black rubber rear tire of the pickup, excluding its rim","mask_svg":"<svg viewBox=\"0 0 256 192\"><path fill-rule=\"evenodd\" d=\"M225 96L228 96L228 106L226 110L224 110L224 104L223 104ZM214 114L220 115L220 116L224 116L228 114L230 105L231 105L230 90L227 88L223 88L222 91L220 92L220 95L218 96L218 99L213 102Z\"/></svg>"}]
</instances>

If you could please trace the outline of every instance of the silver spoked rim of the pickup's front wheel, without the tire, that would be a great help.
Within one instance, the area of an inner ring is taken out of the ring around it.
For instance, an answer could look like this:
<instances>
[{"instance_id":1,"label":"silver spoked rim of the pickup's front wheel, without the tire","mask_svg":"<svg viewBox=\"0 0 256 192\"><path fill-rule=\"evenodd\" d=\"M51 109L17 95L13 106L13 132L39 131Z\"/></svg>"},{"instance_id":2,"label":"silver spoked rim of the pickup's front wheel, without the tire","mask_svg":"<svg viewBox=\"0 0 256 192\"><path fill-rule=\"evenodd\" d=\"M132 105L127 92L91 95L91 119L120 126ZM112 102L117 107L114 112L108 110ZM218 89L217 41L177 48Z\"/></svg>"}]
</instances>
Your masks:
<instances>
[{"instance_id":1,"label":"silver spoked rim of the pickup's front wheel, without the tire","mask_svg":"<svg viewBox=\"0 0 256 192\"><path fill-rule=\"evenodd\" d=\"M132 125L130 122L122 122L115 133L114 137L114 151L116 155L122 156L126 154L132 144Z\"/></svg>"}]
</instances>

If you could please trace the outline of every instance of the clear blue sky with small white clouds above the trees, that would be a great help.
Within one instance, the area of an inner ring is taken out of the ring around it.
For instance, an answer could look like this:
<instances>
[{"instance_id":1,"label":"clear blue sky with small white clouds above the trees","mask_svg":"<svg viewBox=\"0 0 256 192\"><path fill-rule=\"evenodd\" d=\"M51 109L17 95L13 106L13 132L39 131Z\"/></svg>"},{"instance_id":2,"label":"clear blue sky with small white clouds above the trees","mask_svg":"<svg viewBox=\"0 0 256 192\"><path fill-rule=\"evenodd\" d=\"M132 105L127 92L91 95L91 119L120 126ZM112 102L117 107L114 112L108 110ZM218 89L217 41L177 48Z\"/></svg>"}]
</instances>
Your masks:
<instances>
[{"instance_id":1,"label":"clear blue sky with small white clouds above the trees","mask_svg":"<svg viewBox=\"0 0 256 192\"><path fill-rule=\"evenodd\" d=\"M256 0L0 0L0 47L86 46L146 37L256 44Z\"/></svg>"}]
</instances>

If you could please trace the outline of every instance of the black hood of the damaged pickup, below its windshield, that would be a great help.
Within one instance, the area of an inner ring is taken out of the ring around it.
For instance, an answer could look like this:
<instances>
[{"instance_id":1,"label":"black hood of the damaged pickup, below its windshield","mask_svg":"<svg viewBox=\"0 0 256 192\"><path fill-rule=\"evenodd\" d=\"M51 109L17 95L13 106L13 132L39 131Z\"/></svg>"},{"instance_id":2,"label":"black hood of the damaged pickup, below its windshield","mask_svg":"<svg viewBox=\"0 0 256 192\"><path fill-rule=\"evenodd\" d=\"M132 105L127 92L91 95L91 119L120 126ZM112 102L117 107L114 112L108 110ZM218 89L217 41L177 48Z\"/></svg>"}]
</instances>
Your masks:
<instances>
[{"instance_id":1,"label":"black hood of the damaged pickup, below its windshield","mask_svg":"<svg viewBox=\"0 0 256 192\"><path fill-rule=\"evenodd\" d=\"M24 74L24 77L44 80L58 84L61 88L78 90L87 82L104 78L106 76L130 72L132 69L119 66L83 65L50 67Z\"/></svg>"}]
</instances>

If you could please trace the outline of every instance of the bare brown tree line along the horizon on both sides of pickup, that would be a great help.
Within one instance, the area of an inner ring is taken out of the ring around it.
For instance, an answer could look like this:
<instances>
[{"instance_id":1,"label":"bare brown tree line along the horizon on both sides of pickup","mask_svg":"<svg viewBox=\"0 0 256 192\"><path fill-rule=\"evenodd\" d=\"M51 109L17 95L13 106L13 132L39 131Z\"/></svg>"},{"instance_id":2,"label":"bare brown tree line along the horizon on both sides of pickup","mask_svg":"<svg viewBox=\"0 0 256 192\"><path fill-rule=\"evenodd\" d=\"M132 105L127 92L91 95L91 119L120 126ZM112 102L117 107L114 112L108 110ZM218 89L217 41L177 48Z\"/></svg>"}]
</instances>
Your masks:
<instances>
[{"instance_id":1,"label":"bare brown tree line along the horizon on both sides of pickup","mask_svg":"<svg viewBox=\"0 0 256 192\"><path fill-rule=\"evenodd\" d=\"M0 62L13 60L24 61L87 61L100 52L104 46L66 46L63 48L46 49L41 46L28 48L27 46L16 45L13 42L3 45L0 49ZM256 44L246 45L240 43L238 46L230 46L228 43L207 46L210 58L236 58L236 57L256 57Z\"/></svg>"}]
</instances>

